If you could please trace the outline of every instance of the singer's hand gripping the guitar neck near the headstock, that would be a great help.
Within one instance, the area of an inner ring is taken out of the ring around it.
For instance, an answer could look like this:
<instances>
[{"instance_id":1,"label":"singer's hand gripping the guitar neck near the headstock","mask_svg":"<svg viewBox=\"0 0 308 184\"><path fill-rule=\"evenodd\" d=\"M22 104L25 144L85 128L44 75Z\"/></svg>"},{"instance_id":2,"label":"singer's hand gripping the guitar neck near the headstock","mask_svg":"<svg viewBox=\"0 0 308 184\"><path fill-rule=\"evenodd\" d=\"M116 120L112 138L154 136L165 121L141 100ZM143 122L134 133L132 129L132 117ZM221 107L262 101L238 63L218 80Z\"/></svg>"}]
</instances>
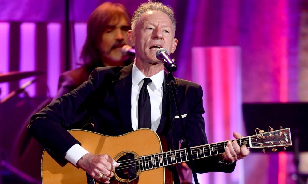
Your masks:
<instances>
[{"instance_id":1,"label":"singer's hand gripping the guitar neck near the headstock","mask_svg":"<svg viewBox=\"0 0 308 184\"><path fill-rule=\"evenodd\" d=\"M241 134L237 132L233 132L233 137L236 139L242 138ZM234 140L229 141L227 146L225 147L225 153L222 155L223 160L227 161L237 161L240 159L243 159L245 156L249 154L249 149L246 147L246 145L238 145L237 141Z\"/></svg>"}]
</instances>

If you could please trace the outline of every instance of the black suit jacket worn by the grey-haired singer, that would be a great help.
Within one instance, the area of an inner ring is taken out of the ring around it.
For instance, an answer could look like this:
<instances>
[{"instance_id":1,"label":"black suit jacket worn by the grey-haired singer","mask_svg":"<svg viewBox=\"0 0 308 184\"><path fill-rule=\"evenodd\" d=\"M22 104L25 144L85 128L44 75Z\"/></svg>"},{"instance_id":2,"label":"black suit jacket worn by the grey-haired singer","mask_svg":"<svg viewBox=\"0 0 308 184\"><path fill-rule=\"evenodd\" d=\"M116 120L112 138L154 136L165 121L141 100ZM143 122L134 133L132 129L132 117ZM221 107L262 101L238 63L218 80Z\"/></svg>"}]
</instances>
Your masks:
<instances>
[{"instance_id":1,"label":"black suit jacket worn by the grey-haired singer","mask_svg":"<svg viewBox=\"0 0 308 184\"><path fill-rule=\"evenodd\" d=\"M167 80L165 75L162 117L156 132L166 137L171 149L178 149L183 130L179 119L174 119L178 114L174 105L169 103ZM181 114L187 114L183 121L188 141L191 146L207 144L202 117L202 88L186 80L176 81ZM87 82L31 117L29 132L58 162L64 160L65 153L71 146L80 144L66 129L84 116L92 117L95 132L110 136L131 132L131 85L132 64L124 67L96 68ZM217 156L199 159L196 162L199 173L232 172L234 167L235 164L219 164Z\"/></svg>"}]
</instances>

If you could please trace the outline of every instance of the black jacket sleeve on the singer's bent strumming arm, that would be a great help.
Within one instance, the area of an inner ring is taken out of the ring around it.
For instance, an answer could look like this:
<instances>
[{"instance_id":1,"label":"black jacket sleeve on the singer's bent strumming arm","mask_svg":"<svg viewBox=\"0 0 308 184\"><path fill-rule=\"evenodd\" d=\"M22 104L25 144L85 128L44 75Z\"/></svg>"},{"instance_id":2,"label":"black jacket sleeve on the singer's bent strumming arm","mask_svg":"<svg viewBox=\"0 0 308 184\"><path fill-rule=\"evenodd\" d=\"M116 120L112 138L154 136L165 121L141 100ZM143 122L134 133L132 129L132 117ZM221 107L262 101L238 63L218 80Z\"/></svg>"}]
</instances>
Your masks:
<instances>
[{"instance_id":1,"label":"black jacket sleeve on the singer's bent strumming arm","mask_svg":"<svg viewBox=\"0 0 308 184\"><path fill-rule=\"evenodd\" d=\"M98 88L104 74L112 71L107 67L104 70L105 72L99 72L99 69L95 69L87 82L56 99L30 119L29 133L59 163L66 162L64 157L69 148L76 143L80 144L66 128L79 121L86 113L77 113L77 109Z\"/></svg>"}]
</instances>

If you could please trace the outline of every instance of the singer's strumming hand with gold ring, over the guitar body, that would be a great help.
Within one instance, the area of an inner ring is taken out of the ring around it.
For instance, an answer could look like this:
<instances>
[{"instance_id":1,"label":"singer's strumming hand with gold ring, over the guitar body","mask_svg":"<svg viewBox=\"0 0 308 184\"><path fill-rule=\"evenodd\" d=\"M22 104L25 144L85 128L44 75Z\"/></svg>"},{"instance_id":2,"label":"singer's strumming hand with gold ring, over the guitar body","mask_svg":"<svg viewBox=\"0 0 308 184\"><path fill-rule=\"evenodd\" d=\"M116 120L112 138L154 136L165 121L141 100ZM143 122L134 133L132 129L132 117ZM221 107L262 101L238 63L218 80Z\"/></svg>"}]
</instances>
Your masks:
<instances>
[{"instance_id":1,"label":"singer's strumming hand with gold ring, over the guitar body","mask_svg":"<svg viewBox=\"0 0 308 184\"><path fill-rule=\"evenodd\" d=\"M110 183L109 180L113 176L114 162L115 160L108 154L95 155L87 153L78 160L77 166L87 171L96 181Z\"/></svg>"}]
</instances>

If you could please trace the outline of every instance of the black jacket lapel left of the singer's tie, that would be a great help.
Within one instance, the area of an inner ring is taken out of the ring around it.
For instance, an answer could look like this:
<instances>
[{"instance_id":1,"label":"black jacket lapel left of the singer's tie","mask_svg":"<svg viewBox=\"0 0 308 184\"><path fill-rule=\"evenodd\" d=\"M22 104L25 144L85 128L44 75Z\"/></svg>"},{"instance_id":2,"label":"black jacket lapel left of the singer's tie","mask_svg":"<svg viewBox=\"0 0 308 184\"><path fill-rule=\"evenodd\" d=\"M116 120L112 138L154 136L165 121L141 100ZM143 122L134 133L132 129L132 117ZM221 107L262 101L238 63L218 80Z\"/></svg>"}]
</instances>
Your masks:
<instances>
[{"instance_id":1,"label":"black jacket lapel left of the singer's tie","mask_svg":"<svg viewBox=\"0 0 308 184\"><path fill-rule=\"evenodd\" d=\"M120 118L127 132L133 131L131 118L131 94L132 94L132 66L124 66L116 75L118 80L113 81L115 87L115 100L117 102Z\"/></svg>"}]
</instances>

